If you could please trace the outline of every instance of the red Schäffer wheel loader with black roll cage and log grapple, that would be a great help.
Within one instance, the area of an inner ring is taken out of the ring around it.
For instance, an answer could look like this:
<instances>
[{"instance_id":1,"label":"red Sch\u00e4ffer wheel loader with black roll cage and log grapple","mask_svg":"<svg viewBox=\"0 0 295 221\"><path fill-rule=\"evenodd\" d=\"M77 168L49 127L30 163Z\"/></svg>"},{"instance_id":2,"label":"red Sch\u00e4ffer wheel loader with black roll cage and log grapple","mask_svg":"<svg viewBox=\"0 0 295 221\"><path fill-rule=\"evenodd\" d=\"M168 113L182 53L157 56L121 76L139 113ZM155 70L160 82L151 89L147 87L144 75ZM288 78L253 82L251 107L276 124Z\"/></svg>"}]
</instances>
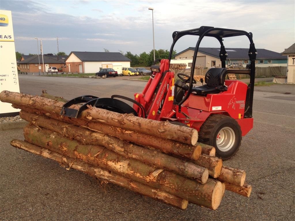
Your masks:
<instances>
[{"instance_id":1,"label":"red Sch\u00e4ffer wheel loader with black roll cage and log grapple","mask_svg":"<svg viewBox=\"0 0 295 221\"><path fill-rule=\"evenodd\" d=\"M183 36L199 36L196 43L191 75L178 74L169 71L175 43ZM247 70L226 69L227 52L223 38L246 36L250 41ZM201 26L200 28L173 32L173 43L169 59L160 60L160 65L151 66L152 74L142 93L135 93L135 99L120 95L112 98L96 98L82 96L65 104L62 114L77 117L78 112L68 108L73 103L84 102L79 112L93 105L98 108L112 110L118 113L133 113L135 116L157 121L170 121L195 128L199 132L199 142L216 148L217 156L222 159L232 157L240 147L242 136L253 128L252 104L255 78L256 49L251 32L241 30ZM204 37L213 37L220 43L219 57L221 68L210 68L204 76L205 84L196 87L194 70L199 45ZM226 80L229 73L246 74L250 76L247 85L239 80ZM124 103L125 99L134 103L133 108ZM87 103L86 103L87 102Z\"/></svg>"}]
</instances>

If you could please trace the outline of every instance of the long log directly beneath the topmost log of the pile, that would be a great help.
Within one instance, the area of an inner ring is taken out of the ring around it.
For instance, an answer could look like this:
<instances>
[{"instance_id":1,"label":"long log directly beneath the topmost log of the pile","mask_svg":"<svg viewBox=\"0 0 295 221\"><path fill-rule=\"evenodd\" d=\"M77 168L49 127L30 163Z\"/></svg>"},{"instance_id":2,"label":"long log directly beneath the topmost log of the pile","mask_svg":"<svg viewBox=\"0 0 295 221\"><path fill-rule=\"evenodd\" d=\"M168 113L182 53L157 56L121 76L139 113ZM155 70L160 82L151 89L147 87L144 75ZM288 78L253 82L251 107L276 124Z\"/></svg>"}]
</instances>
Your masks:
<instances>
[{"instance_id":1,"label":"long log directly beneath the topmost log of the pile","mask_svg":"<svg viewBox=\"0 0 295 221\"><path fill-rule=\"evenodd\" d=\"M44 115L44 116L47 116L59 121L63 121L66 123L70 123L76 126L81 126L81 127L88 128L90 130L109 134L111 136L115 136L125 141L131 141L141 146L150 146L155 149L159 149L163 151L164 153L170 153L176 156L184 156L186 158L194 159L194 160L199 159L199 156L201 155L200 145L192 146L188 144L183 144L181 142L172 141L172 140L159 138L155 136L150 136L144 133L127 131L122 128L116 128L116 127L102 124L99 122L87 121L80 118L69 118L65 116L60 116L59 114L56 114L53 112L48 113L45 110L37 110L24 105L13 104L13 106L15 108L19 108L30 113Z\"/></svg>"}]
</instances>

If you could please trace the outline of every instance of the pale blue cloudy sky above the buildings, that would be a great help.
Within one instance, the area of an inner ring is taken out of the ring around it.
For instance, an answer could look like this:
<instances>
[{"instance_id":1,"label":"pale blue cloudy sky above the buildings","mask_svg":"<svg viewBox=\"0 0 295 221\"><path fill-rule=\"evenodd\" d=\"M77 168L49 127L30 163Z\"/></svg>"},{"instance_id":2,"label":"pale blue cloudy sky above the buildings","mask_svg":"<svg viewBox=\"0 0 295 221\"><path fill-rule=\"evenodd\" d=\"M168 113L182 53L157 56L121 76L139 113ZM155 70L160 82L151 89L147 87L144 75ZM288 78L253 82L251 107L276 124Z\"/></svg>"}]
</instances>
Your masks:
<instances>
[{"instance_id":1,"label":"pale blue cloudy sky above the buildings","mask_svg":"<svg viewBox=\"0 0 295 221\"><path fill-rule=\"evenodd\" d=\"M295 42L295 1L13 1L0 9L12 11L16 51L43 53L71 51L127 52L139 55L153 49L170 50L172 33L200 26L240 29L253 33L256 48L283 52ZM196 37L180 39L180 52L195 47ZM39 42L40 43L40 42ZM224 40L225 47L249 47L245 37ZM219 47L208 38L201 47Z\"/></svg>"}]
</instances>

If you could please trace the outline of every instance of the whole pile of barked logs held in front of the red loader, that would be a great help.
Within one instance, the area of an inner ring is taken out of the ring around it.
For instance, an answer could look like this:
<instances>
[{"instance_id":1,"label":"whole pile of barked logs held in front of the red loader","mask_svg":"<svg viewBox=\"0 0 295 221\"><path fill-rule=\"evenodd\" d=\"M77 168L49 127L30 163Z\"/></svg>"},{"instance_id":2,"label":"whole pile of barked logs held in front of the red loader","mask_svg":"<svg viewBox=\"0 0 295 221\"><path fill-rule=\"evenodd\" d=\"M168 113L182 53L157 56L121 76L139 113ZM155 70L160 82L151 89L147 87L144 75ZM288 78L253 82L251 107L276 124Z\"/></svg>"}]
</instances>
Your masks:
<instances>
[{"instance_id":1,"label":"whole pile of barked logs held in front of the red loader","mask_svg":"<svg viewBox=\"0 0 295 221\"><path fill-rule=\"evenodd\" d=\"M250 196L245 171L223 166L214 147L198 143L192 128L90 106L79 118L69 118L60 115L64 102L9 91L2 91L0 100L21 109L20 117L29 122L25 141L11 145L66 169L180 209L193 203L216 210L225 189Z\"/></svg>"}]
</instances>

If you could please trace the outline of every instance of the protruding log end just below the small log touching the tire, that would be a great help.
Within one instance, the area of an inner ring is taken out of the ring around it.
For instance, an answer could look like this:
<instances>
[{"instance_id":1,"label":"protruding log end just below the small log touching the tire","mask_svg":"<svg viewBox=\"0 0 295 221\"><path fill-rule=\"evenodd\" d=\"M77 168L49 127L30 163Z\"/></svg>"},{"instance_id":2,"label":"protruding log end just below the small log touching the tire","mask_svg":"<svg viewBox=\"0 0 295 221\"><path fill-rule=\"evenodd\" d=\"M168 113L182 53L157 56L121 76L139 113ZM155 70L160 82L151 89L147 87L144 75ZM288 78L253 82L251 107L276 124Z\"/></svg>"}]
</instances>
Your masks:
<instances>
[{"instance_id":1,"label":"protruding log end just below the small log touching the tire","mask_svg":"<svg viewBox=\"0 0 295 221\"><path fill-rule=\"evenodd\" d=\"M207 168L209 171L209 175L213 178L217 178L220 175L222 168L222 159L220 158L201 155L198 160L192 162L194 164Z\"/></svg>"}]
</instances>

